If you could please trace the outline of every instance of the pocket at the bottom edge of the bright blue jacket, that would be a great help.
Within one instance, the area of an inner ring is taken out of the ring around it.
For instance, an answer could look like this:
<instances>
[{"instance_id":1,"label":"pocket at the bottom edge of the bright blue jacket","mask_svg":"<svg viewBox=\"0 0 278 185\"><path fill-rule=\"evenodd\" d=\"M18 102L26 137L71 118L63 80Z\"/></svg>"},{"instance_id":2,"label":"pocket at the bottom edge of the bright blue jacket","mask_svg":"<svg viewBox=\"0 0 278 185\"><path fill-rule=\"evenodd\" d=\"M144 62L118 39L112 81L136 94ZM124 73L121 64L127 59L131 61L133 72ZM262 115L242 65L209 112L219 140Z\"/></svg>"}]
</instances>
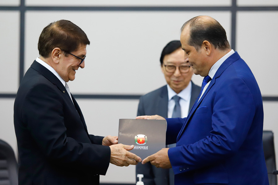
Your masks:
<instances>
[{"instance_id":1,"label":"pocket at the bottom edge of the bright blue jacket","mask_svg":"<svg viewBox=\"0 0 278 185\"><path fill-rule=\"evenodd\" d=\"M193 175L195 184L215 183L215 184L228 184L229 177L226 171L205 171L197 172Z\"/></svg>"}]
</instances>

